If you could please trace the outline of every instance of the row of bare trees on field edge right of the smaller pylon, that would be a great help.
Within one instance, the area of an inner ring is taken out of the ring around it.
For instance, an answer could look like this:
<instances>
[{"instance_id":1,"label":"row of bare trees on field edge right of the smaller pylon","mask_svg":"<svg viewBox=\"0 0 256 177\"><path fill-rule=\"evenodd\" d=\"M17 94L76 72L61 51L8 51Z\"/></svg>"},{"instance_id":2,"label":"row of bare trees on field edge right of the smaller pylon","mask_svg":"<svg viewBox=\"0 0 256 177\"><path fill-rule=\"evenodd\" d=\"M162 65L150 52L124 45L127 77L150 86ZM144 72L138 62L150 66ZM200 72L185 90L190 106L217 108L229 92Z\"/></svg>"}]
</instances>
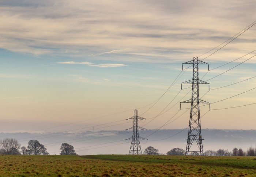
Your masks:
<instances>
[{"instance_id":1,"label":"row of bare trees on field edge right of the smaller pylon","mask_svg":"<svg viewBox=\"0 0 256 177\"><path fill-rule=\"evenodd\" d=\"M170 151L166 152L166 155L185 155L185 150L182 148L173 148ZM159 150L149 146L144 150L144 153L146 155L165 155L160 154ZM228 151L227 149L218 149L216 151L213 150L207 150L204 152L205 156L256 156L256 148L249 147L246 151L242 150L241 148L234 148L232 151Z\"/></svg>"}]
</instances>

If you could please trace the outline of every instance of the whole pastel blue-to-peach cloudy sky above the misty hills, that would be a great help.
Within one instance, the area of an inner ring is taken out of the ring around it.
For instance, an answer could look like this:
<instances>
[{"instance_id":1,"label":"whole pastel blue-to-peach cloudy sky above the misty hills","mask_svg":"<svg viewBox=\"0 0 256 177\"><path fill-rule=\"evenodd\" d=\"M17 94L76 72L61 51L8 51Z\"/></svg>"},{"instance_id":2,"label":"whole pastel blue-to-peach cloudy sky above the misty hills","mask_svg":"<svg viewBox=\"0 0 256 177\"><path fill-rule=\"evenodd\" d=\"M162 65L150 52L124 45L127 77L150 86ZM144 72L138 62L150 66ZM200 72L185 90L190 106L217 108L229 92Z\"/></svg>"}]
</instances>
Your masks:
<instances>
[{"instance_id":1,"label":"whole pastel blue-to-peach cloudy sky above the misty hills","mask_svg":"<svg viewBox=\"0 0 256 177\"><path fill-rule=\"evenodd\" d=\"M255 6L253 0L1 0L0 131L123 130L132 127L124 120L135 108L149 119L140 122L147 129L162 126L176 112L172 120L184 114L163 128L186 128L189 111L179 110L179 102L190 99L191 91L179 91L181 82L192 79L192 70L179 75L182 63L253 23ZM256 25L204 62L216 68L252 52L255 42ZM207 73L203 80L208 80L255 54L208 73L200 65L199 77ZM256 76L255 61L209 80L210 89ZM255 82L211 91L201 84L199 90L201 96L207 93L203 100L213 103L253 89ZM255 103L255 91L214 103L211 109ZM255 106L209 112L208 106L201 107L201 115L207 112L201 126L255 129ZM153 120L165 107L172 108Z\"/></svg>"}]
</instances>

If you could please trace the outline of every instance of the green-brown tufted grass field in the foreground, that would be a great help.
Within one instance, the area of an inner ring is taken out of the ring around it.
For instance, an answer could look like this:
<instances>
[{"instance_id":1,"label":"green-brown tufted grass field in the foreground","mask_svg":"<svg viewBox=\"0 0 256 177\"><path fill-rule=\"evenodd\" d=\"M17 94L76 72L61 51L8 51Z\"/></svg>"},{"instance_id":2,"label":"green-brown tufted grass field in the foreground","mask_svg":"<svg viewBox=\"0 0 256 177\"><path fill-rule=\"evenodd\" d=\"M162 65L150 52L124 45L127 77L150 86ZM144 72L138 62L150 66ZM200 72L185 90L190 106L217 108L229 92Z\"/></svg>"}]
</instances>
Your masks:
<instances>
[{"instance_id":1,"label":"green-brown tufted grass field in the foreground","mask_svg":"<svg viewBox=\"0 0 256 177\"><path fill-rule=\"evenodd\" d=\"M256 157L1 155L0 176L256 176Z\"/></svg>"}]
</instances>

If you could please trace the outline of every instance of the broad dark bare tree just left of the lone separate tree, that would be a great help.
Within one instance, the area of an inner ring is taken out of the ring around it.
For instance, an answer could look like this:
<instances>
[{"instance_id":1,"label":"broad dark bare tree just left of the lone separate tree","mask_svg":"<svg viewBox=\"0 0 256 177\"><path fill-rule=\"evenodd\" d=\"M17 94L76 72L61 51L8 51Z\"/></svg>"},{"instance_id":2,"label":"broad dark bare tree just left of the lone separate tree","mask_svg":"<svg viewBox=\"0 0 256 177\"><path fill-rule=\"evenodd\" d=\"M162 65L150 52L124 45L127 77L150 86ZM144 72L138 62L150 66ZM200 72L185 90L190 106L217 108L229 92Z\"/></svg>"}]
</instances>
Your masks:
<instances>
[{"instance_id":1,"label":"broad dark bare tree just left of the lone separate tree","mask_svg":"<svg viewBox=\"0 0 256 177\"><path fill-rule=\"evenodd\" d=\"M27 152L29 155L48 155L47 149L43 144L40 144L38 140L30 140L27 146Z\"/></svg>"}]
</instances>

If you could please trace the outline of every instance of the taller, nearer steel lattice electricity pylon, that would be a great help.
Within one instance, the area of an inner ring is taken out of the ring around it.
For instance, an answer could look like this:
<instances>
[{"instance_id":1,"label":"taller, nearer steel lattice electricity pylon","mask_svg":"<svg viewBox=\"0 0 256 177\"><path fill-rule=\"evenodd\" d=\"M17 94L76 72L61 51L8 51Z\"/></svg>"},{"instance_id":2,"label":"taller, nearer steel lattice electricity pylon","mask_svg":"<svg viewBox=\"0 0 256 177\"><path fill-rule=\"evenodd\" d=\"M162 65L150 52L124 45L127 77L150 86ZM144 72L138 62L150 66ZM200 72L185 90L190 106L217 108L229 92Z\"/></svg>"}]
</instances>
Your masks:
<instances>
[{"instance_id":1,"label":"taller, nearer steel lattice electricity pylon","mask_svg":"<svg viewBox=\"0 0 256 177\"><path fill-rule=\"evenodd\" d=\"M182 63L182 70L183 70L183 64L192 64L193 65L193 79L181 83L181 89L182 89L182 84L184 84L184 83L192 84L191 99L181 102L181 103L191 103L186 155L203 155L204 150L203 150L203 142L202 142L203 139L202 139L202 134L201 134L199 103L208 103L208 102L203 101L202 99L199 99L199 84L209 84L209 83L204 82L199 79L198 65L199 64L208 64L208 63L198 60L198 57L194 57L193 60L188 61L186 63ZM208 64L208 71L209 71L209 64ZM209 89L210 89L210 84L209 84ZM208 103L208 104L210 104L210 103ZM197 146L199 148L199 150L197 150L197 151L190 150L192 143L194 141L197 143Z\"/></svg>"}]
</instances>

